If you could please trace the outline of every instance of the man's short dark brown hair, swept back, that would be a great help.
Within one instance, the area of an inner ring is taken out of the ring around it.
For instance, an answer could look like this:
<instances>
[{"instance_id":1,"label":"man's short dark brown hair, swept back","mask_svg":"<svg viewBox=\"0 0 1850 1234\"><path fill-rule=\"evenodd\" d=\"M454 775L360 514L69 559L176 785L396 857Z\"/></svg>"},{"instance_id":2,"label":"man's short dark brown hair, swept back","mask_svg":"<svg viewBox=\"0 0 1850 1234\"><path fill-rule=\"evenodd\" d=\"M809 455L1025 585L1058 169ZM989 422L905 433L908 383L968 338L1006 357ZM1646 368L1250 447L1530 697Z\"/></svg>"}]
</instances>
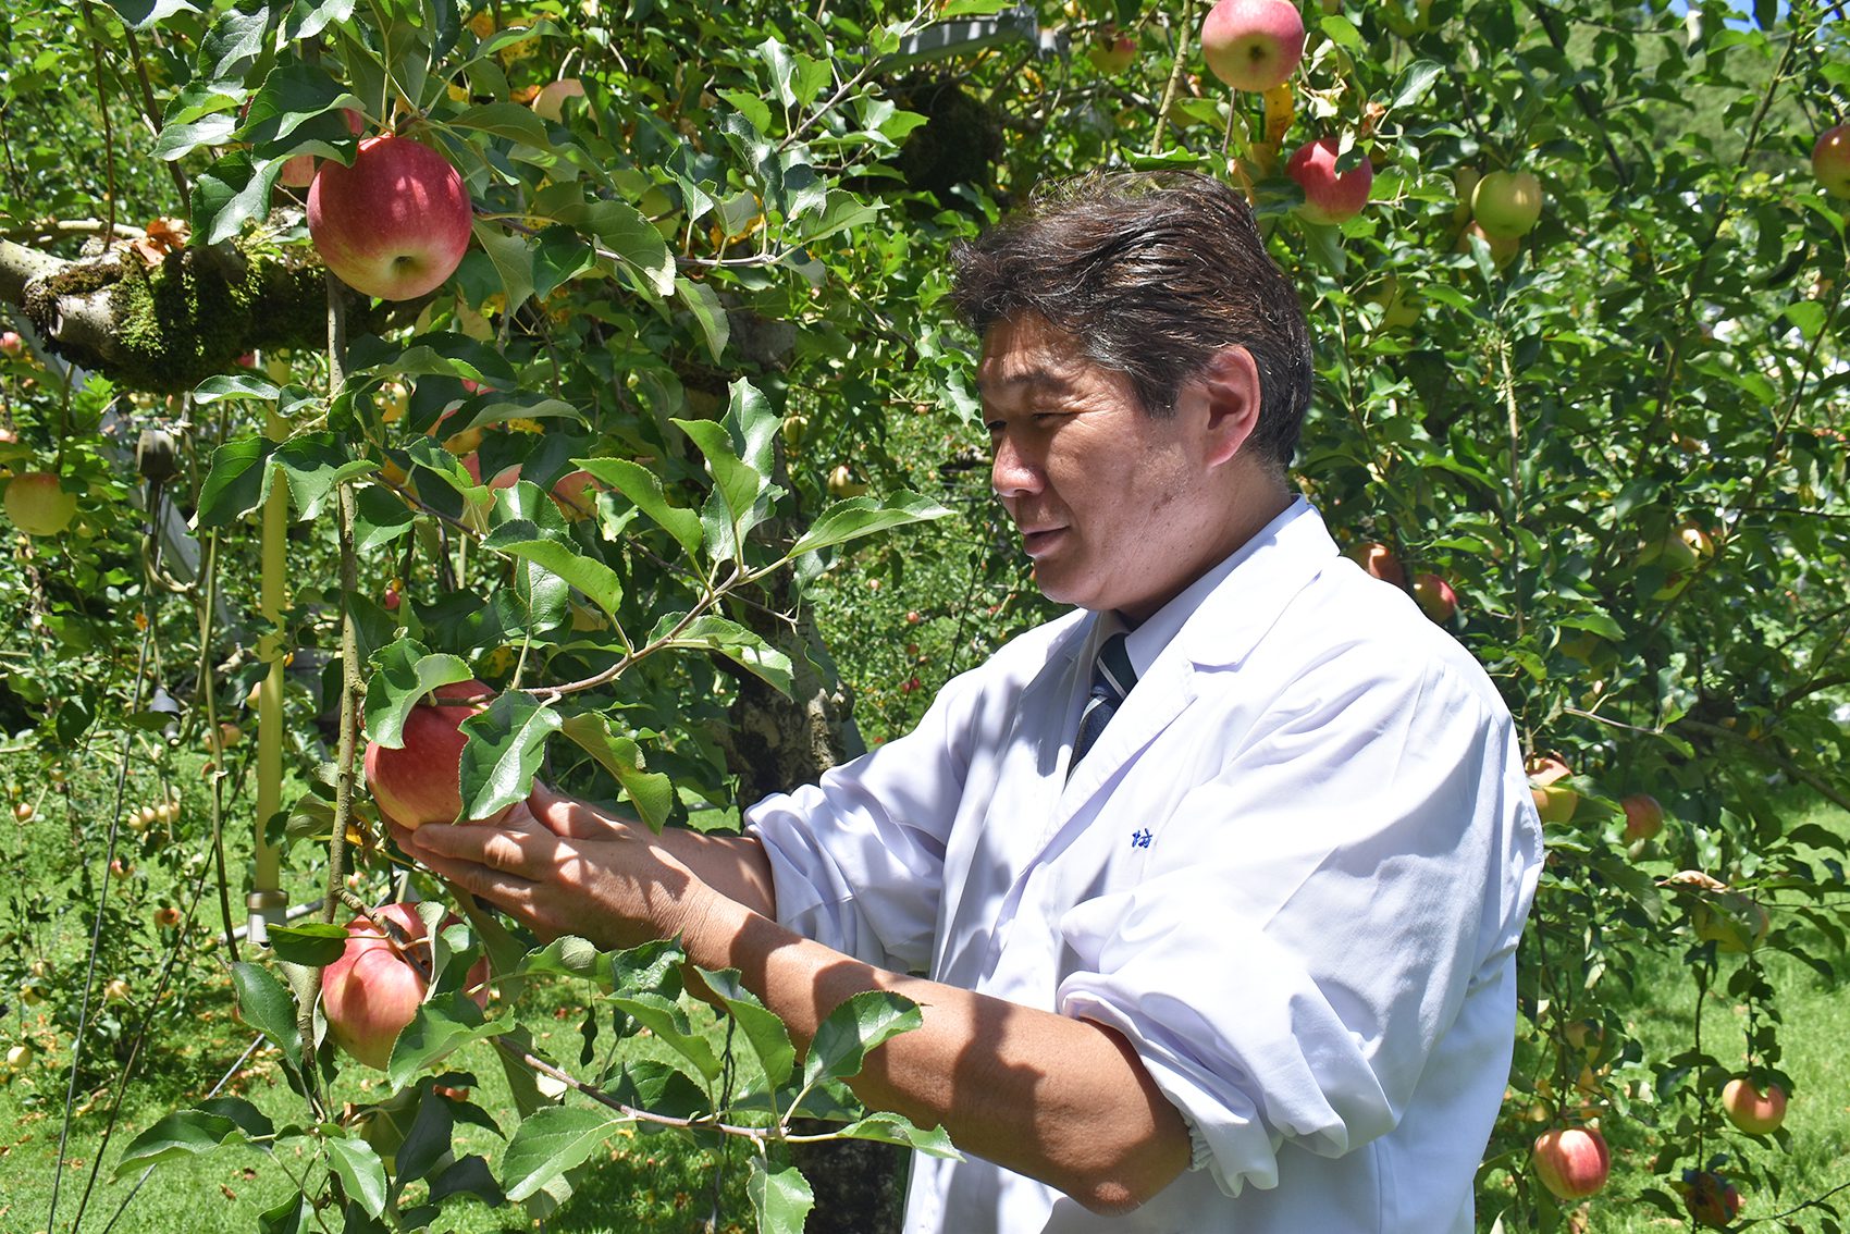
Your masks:
<instances>
[{"instance_id":1,"label":"man's short dark brown hair, swept back","mask_svg":"<svg viewBox=\"0 0 1850 1234\"><path fill-rule=\"evenodd\" d=\"M1086 359L1130 377L1169 416L1182 385L1228 346L1260 370L1252 444L1280 470L1310 405L1310 329L1245 198L1191 172L1116 172L1045 189L951 261L951 302L979 335L1034 315Z\"/></svg>"}]
</instances>

